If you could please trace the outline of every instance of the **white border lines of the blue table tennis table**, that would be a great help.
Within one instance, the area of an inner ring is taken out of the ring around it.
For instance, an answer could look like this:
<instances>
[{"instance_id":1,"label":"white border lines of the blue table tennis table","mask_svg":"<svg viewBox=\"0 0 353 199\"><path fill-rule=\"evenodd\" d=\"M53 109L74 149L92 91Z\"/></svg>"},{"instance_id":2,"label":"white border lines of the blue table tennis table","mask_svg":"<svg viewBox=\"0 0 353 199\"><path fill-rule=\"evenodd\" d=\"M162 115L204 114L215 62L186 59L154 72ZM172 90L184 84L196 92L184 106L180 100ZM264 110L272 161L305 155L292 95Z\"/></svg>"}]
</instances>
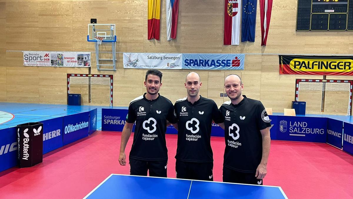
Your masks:
<instances>
[{"instance_id":1,"label":"white border lines of the blue table tennis table","mask_svg":"<svg viewBox=\"0 0 353 199\"><path fill-rule=\"evenodd\" d=\"M162 179L172 179L172 180L187 180L187 181L200 181L200 182L216 182L216 183L225 183L225 184L241 184L241 185L247 185L247 186L261 186L261 187L275 187L275 188L279 188L283 197L285 197L285 199L288 199L287 195L285 194L285 192L283 192L282 188L279 186L270 186L270 185L258 185L258 184L243 184L243 183L231 183L231 182L217 182L217 181L205 181L205 180L190 180L190 179L183 179L183 178L168 178L168 177L153 177L153 176L136 176L136 175L126 175L126 174L110 174L105 180L103 180L103 182L101 182L100 184L98 184L98 186L96 188L94 188L89 194L87 194L83 199L86 199L87 197L89 197L94 191L96 191L96 189L98 189L104 182L106 182L110 177L112 177L113 175L116 176L134 176L134 177L149 177L149 178L162 178ZM191 185L190 185L190 189L191 189ZM189 189L189 192L190 192Z\"/></svg>"}]
</instances>

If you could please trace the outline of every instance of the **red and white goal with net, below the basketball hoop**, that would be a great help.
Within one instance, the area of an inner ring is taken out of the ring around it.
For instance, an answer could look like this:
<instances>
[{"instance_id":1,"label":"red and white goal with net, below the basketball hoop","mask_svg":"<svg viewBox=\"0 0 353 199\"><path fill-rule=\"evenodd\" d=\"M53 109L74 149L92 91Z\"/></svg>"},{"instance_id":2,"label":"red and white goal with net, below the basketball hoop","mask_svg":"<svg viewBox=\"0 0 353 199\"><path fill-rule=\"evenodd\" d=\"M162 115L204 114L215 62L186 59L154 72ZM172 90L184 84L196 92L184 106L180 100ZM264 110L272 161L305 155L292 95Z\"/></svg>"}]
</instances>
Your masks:
<instances>
[{"instance_id":1,"label":"red and white goal with net, below the basketball hoop","mask_svg":"<svg viewBox=\"0 0 353 199\"><path fill-rule=\"evenodd\" d=\"M70 85L82 84L90 87L91 85L107 85L109 86L109 104L113 106L113 75L100 74L67 74L67 94L70 94ZM90 96L89 96L90 99Z\"/></svg>"}]
</instances>

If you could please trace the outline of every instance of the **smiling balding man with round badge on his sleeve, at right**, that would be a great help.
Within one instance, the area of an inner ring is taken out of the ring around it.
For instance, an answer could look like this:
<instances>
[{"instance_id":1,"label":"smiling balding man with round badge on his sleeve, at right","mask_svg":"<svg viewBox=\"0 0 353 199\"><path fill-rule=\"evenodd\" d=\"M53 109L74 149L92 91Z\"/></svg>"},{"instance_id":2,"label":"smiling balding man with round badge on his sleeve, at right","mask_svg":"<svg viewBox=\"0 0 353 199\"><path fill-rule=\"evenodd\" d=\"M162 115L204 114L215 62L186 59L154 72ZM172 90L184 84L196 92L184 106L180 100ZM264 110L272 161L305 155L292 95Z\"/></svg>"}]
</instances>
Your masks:
<instances>
[{"instance_id":1,"label":"smiling balding man with round badge on his sleeve, at right","mask_svg":"<svg viewBox=\"0 0 353 199\"><path fill-rule=\"evenodd\" d=\"M270 152L270 119L260 101L241 95L244 85L238 75L224 81L231 101L222 104L226 149L223 181L263 184Z\"/></svg>"}]
</instances>

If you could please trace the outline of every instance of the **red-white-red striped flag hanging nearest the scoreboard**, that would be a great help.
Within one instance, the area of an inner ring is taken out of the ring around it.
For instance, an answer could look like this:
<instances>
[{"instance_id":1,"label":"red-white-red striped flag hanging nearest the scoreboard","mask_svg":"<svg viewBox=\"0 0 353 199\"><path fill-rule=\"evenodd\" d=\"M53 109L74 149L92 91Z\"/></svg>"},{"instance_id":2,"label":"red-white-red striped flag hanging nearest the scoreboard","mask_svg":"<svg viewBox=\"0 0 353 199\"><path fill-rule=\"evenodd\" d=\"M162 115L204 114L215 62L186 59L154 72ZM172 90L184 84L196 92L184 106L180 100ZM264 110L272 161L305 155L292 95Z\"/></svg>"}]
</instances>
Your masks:
<instances>
[{"instance_id":1,"label":"red-white-red striped flag hanging nearest the scoreboard","mask_svg":"<svg viewBox=\"0 0 353 199\"><path fill-rule=\"evenodd\" d=\"M270 28L272 0L260 0L261 46L266 45L268 29Z\"/></svg>"}]
</instances>

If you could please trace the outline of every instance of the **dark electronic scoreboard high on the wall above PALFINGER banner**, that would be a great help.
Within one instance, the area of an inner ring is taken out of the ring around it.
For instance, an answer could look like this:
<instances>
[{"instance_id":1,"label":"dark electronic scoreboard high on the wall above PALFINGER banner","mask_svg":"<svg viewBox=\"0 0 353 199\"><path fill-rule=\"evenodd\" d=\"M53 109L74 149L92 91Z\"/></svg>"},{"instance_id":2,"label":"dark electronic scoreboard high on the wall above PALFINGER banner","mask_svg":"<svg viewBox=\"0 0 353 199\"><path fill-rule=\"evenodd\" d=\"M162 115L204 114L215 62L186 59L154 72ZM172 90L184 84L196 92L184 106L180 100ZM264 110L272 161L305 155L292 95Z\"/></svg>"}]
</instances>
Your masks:
<instances>
[{"instance_id":1,"label":"dark electronic scoreboard high on the wall above PALFINGER banner","mask_svg":"<svg viewBox=\"0 0 353 199\"><path fill-rule=\"evenodd\" d=\"M353 30L353 0L298 0L296 30Z\"/></svg>"}]
</instances>

